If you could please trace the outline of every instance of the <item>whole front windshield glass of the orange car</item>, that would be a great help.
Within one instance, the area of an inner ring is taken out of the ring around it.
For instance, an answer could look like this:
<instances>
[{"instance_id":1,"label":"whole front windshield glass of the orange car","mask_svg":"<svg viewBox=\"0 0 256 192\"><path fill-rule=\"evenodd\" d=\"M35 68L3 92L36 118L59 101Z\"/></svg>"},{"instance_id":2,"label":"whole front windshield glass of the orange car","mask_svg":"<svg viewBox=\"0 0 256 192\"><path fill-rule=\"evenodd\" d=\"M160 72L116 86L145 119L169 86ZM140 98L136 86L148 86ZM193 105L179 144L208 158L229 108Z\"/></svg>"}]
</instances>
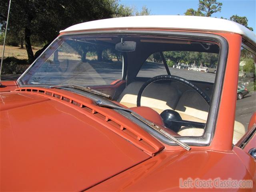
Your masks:
<instances>
[{"instance_id":1,"label":"whole front windshield glass of the orange car","mask_svg":"<svg viewBox=\"0 0 256 192\"><path fill-rule=\"evenodd\" d=\"M72 92L76 88L86 91L84 96L96 94L95 100L107 95L116 104L139 110L145 119L152 117L150 122L162 123L160 126L176 136L202 136L219 53L219 44L205 37L66 34L57 38L18 82L21 87ZM146 108L140 110L139 106Z\"/></svg>"}]
</instances>

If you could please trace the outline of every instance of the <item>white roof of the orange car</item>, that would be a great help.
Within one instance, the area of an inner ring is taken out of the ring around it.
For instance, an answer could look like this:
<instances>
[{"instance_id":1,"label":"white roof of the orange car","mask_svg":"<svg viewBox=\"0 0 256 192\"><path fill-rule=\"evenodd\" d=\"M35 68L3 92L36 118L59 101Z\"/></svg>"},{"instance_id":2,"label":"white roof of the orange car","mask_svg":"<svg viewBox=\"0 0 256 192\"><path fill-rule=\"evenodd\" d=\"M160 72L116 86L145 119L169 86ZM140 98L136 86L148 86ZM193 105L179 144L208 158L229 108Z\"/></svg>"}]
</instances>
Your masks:
<instances>
[{"instance_id":1,"label":"white roof of the orange car","mask_svg":"<svg viewBox=\"0 0 256 192\"><path fill-rule=\"evenodd\" d=\"M232 32L240 34L254 45L256 44L256 35L248 28L226 19L200 16L152 15L110 18L76 24L60 31L60 33L132 28Z\"/></svg>"}]
</instances>

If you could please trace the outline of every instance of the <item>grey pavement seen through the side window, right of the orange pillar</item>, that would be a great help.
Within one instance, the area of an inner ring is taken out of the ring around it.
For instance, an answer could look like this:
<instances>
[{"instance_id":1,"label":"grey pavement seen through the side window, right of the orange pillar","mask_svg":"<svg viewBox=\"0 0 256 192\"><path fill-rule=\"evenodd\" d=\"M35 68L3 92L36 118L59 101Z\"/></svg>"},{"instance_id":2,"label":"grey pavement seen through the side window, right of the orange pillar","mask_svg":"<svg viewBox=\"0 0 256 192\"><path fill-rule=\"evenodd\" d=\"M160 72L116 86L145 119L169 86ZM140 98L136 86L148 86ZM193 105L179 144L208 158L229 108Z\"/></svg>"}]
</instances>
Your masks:
<instances>
[{"instance_id":1,"label":"grey pavement seen through the side window, right of the orange pillar","mask_svg":"<svg viewBox=\"0 0 256 192\"><path fill-rule=\"evenodd\" d=\"M243 99L236 101L236 121L248 129L252 114L256 111L256 91L250 92Z\"/></svg>"}]
</instances>

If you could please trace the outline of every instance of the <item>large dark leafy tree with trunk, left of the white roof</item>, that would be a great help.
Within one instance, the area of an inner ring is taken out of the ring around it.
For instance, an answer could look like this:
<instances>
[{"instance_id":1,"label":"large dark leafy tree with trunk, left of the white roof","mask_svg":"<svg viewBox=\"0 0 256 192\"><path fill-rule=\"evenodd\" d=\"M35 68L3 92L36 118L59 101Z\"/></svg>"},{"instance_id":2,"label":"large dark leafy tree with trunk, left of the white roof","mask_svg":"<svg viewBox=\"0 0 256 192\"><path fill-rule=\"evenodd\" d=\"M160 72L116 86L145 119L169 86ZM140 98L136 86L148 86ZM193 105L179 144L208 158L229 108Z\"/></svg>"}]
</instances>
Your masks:
<instances>
[{"instance_id":1,"label":"large dark leafy tree with trunk, left of the white roof","mask_svg":"<svg viewBox=\"0 0 256 192\"><path fill-rule=\"evenodd\" d=\"M5 28L9 0L0 2L0 26ZM117 0L12 0L8 32L24 33L28 61L34 60L31 38L51 42L58 32L73 24L111 18Z\"/></svg>"}]
</instances>

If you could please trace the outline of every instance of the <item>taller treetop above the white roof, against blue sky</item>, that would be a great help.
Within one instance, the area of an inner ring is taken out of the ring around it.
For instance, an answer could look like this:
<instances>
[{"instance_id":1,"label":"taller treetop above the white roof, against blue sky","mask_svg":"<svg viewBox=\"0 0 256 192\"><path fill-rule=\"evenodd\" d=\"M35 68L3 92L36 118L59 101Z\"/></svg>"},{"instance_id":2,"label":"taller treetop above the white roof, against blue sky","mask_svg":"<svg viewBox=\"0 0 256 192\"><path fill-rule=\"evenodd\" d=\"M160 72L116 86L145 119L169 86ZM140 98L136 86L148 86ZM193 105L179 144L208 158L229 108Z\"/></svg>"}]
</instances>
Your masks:
<instances>
[{"instance_id":1,"label":"taller treetop above the white roof, against blue sky","mask_svg":"<svg viewBox=\"0 0 256 192\"><path fill-rule=\"evenodd\" d=\"M199 0L197 11L190 8L184 14L210 17L213 13L220 12L221 6L222 3L217 2L216 0Z\"/></svg>"}]
</instances>

